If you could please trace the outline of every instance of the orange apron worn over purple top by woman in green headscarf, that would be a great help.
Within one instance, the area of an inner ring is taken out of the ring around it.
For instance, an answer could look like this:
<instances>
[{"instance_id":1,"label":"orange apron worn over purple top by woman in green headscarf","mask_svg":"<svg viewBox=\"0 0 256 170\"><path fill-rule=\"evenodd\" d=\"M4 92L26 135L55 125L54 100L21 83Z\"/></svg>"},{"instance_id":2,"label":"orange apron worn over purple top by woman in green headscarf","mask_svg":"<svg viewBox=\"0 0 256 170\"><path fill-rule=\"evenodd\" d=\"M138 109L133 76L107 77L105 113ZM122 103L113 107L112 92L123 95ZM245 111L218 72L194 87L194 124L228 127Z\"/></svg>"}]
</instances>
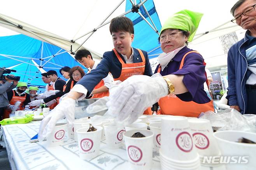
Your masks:
<instances>
[{"instance_id":1,"label":"orange apron worn over purple top by woman in green headscarf","mask_svg":"<svg viewBox=\"0 0 256 170\"><path fill-rule=\"evenodd\" d=\"M181 69L183 67L184 59L189 53L198 53L198 52L197 51L189 51L188 53L186 53L181 60L181 65L180 65L179 69ZM203 65L206 65L206 63L203 62ZM158 73L160 73L160 70L161 70L161 65L158 68ZM207 86L209 88L206 73L205 73L205 77L206 77ZM196 103L193 101L184 102L174 94L169 94L163 98L160 98L160 100L158 101L158 104L160 106L160 110L159 110L158 114L198 117L201 112L206 112L209 110L214 111L213 100L211 100L208 103L203 103L203 104L199 104L199 103Z\"/></svg>"}]
</instances>

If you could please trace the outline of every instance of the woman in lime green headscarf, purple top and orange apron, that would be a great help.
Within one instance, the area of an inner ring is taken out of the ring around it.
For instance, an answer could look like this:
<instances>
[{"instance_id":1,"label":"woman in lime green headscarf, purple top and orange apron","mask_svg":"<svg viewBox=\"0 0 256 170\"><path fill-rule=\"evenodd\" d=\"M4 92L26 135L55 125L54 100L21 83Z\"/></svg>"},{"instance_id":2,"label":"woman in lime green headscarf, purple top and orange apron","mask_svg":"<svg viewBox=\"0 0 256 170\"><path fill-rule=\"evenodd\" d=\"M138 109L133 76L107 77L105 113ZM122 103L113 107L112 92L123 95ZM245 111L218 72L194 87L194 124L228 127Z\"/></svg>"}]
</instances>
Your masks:
<instances>
[{"instance_id":1,"label":"woman in lime green headscarf, purple top and orange apron","mask_svg":"<svg viewBox=\"0 0 256 170\"><path fill-rule=\"evenodd\" d=\"M119 84L109 95L110 114L118 113L122 115L120 122L132 123L156 102L160 105L158 114L198 117L201 112L214 110L203 90L207 80L203 57L186 47L202 16L182 10L168 18L159 37L164 53L158 57L155 73L161 75L134 75Z\"/></svg>"}]
</instances>

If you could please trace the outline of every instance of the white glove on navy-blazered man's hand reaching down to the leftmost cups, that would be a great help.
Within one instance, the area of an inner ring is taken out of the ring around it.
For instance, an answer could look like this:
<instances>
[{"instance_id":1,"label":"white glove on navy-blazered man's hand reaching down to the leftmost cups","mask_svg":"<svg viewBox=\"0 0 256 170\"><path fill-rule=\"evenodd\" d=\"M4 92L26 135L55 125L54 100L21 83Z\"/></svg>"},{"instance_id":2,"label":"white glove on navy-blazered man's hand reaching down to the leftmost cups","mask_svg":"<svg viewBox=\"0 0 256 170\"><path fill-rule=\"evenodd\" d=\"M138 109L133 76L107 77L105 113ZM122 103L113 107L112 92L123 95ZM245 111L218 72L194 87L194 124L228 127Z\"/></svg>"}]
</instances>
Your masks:
<instances>
[{"instance_id":1,"label":"white glove on navy-blazered man's hand reaching down to the leftmost cups","mask_svg":"<svg viewBox=\"0 0 256 170\"><path fill-rule=\"evenodd\" d=\"M75 120L75 100L65 98L41 121L38 139L42 141L53 131L58 120L66 117L68 130L71 130Z\"/></svg>"}]
</instances>

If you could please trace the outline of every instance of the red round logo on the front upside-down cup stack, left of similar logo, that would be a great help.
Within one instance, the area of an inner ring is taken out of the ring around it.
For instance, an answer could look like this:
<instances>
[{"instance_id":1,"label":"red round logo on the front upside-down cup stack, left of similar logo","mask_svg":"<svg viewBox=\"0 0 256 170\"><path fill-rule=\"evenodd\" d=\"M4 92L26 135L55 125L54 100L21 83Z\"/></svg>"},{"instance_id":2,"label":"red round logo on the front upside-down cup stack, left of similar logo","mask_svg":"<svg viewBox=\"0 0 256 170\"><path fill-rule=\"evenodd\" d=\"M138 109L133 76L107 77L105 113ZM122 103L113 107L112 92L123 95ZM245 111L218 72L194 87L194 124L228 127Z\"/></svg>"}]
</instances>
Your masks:
<instances>
[{"instance_id":1,"label":"red round logo on the front upside-down cup stack, left of similar logo","mask_svg":"<svg viewBox=\"0 0 256 170\"><path fill-rule=\"evenodd\" d=\"M176 145L183 152L190 152L193 148L193 140L188 132L183 131L176 137Z\"/></svg>"}]
</instances>

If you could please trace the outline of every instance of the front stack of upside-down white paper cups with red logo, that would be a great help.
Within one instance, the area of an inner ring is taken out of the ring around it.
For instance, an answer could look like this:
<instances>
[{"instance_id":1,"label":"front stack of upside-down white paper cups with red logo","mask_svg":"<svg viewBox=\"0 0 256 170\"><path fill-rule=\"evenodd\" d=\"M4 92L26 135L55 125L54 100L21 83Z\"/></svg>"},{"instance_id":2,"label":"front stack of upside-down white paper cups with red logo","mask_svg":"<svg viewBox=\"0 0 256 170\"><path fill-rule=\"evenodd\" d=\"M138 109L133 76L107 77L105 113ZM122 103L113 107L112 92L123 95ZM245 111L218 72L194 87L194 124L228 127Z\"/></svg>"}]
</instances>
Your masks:
<instances>
[{"instance_id":1,"label":"front stack of upside-down white paper cups with red logo","mask_svg":"<svg viewBox=\"0 0 256 170\"><path fill-rule=\"evenodd\" d=\"M160 161L162 170L198 170L200 161L189 128L188 118L162 117ZM184 168L188 166L189 168Z\"/></svg>"}]
</instances>

